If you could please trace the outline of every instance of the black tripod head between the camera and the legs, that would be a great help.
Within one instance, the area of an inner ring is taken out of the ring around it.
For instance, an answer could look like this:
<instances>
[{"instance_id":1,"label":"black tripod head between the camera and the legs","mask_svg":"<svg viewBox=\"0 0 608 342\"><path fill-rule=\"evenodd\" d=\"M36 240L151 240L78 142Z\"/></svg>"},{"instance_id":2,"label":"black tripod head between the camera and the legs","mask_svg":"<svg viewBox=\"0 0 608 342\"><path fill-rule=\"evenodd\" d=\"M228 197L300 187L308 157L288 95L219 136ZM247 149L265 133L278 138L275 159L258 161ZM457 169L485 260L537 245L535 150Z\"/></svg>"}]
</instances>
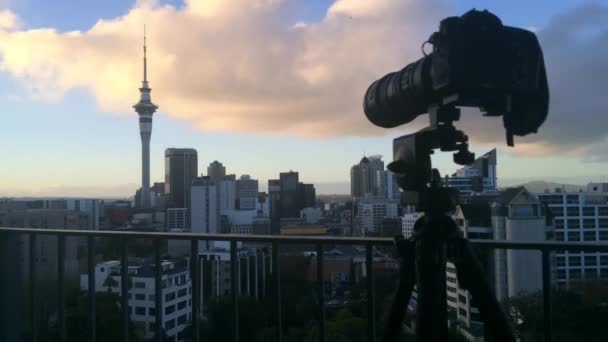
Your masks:
<instances>
[{"instance_id":1,"label":"black tripod head between the camera and the legs","mask_svg":"<svg viewBox=\"0 0 608 342\"><path fill-rule=\"evenodd\" d=\"M445 188L437 169L431 165L435 149L456 151L454 162L469 165L475 154L469 151L468 136L453 123L460 119L460 109L454 104L431 105L430 125L416 133L393 140L393 159L387 167L395 173L397 184L405 197L414 198L418 208L426 213L445 213L455 209L457 190Z\"/></svg>"}]
</instances>

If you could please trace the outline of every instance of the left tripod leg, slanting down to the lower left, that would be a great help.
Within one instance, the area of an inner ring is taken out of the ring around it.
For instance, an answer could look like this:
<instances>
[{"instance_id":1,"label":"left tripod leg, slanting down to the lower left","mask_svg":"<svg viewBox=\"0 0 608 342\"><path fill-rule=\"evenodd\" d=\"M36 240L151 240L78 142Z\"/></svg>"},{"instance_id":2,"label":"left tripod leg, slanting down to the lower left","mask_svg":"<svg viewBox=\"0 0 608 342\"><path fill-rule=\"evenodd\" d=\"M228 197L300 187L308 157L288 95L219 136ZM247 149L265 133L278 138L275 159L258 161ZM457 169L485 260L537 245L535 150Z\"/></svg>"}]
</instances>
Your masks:
<instances>
[{"instance_id":1,"label":"left tripod leg, slanting down to the lower left","mask_svg":"<svg viewBox=\"0 0 608 342\"><path fill-rule=\"evenodd\" d=\"M414 288L414 243L403 238L397 239L397 250L401 257L399 264L399 288L391 304L391 310L386 321L383 342L395 341L401 333L401 324Z\"/></svg>"}]
</instances>

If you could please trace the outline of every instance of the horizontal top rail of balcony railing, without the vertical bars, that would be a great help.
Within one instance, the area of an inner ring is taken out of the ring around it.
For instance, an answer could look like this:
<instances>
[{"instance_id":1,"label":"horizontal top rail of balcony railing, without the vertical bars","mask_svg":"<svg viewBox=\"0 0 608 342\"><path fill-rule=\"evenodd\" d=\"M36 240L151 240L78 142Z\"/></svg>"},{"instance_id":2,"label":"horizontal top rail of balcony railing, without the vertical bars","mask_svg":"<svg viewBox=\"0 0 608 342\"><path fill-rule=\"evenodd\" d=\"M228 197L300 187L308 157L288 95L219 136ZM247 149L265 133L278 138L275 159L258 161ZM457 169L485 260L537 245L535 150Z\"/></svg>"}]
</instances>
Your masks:
<instances>
[{"instance_id":1,"label":"horizontal top rail of balcony railing, without the vertical bars","mask_svg":"<svg viewBox=\"0 0 608 342\"><path fill-rule=\"evenodd\" d=\"M135 232L113 230L70 230L70 229L38 229L38 228L4 228L0 233L22 233L38 235L64 236L96 236L150 238L169 240L213 240L213 241L245 241L245 242L278 242L302 244L340 244L340 245L392 245L392 238L380 237L339 237L339 236L288 236L288 235L242 235L242 234L203 234L203 233L171 233L171 232ZM504 240L470 240L474 245L499 249L528 249L547 251L593 251L608 252L608 242L566 242L566 241L504 241Z\"/></svg>"}]
</instances>

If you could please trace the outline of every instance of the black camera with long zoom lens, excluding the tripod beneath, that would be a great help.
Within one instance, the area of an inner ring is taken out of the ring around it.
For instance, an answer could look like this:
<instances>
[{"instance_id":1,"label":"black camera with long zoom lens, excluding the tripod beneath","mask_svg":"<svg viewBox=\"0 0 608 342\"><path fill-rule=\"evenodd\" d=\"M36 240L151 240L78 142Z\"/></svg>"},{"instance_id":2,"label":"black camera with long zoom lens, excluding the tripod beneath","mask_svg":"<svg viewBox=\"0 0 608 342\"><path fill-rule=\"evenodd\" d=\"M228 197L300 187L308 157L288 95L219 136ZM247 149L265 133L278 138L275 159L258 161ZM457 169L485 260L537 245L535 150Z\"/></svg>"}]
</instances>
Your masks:
<instances>
[{"instance_id":1,"label":"black camera with long zoom lens, excluding the tripod beneath","mask_svg":"<svg viewBox=\"0 0 608 342\"><path fill-rule=\"evenodd\" d=\"M368 88L364 110L372 123L396 127L432 105L453 104L503 116L508 137L535 133L542 125L549 90L534 33L471 10L443 19L428 43L432 53Z\"/></svg>"}]
</instances>

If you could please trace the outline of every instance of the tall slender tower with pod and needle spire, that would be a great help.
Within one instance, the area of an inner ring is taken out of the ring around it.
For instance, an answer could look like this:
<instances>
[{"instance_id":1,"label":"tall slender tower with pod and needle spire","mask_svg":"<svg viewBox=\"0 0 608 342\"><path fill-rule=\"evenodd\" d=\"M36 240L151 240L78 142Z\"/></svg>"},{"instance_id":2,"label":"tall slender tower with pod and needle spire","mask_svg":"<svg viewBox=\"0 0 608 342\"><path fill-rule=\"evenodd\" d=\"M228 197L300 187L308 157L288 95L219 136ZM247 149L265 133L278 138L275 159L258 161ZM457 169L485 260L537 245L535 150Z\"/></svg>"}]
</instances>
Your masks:
<instances>
[{"instance_id":1,"label":"tall slender tower with pod and needle spire","mask_svg":"<svg viewBox=\"0 0 608 342\"><path fill-rule=\"evenodd\" d=\"M142 208L150 208L150 136L152 135L152 115L158 109L152 99L148 87L146 60L146 34L144 32L144 80L139 88L139 102L133 108L139 114L139 135L141 136L141 200Z\"/></svg>"}]
</instances>

